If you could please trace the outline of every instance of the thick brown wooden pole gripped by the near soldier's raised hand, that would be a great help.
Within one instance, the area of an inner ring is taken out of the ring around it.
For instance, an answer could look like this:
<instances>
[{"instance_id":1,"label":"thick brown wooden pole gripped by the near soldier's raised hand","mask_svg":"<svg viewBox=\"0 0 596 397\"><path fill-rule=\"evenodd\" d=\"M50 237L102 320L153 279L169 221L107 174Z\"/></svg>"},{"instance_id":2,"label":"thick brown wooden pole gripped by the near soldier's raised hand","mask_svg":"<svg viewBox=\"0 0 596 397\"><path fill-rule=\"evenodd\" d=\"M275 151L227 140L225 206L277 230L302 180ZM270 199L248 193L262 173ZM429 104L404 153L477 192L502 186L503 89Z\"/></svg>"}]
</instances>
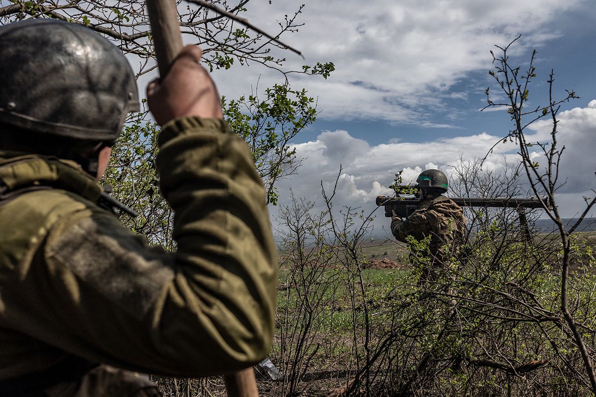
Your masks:
<instances>
[{"instance_id":1,"label":"thick brown wooden pole gripped by the near soldier's raised hand","mask_svg":"<svg viewBox=\"0 0 596 397\"><path fill-rule=\"evenodd\" d=\"M151 36L160 76L166 76L170 65L182 50L182 36L175 0L147 0ZM259 397L252 367L224 376L229 397Z\"/></svg>"}]
</instances>

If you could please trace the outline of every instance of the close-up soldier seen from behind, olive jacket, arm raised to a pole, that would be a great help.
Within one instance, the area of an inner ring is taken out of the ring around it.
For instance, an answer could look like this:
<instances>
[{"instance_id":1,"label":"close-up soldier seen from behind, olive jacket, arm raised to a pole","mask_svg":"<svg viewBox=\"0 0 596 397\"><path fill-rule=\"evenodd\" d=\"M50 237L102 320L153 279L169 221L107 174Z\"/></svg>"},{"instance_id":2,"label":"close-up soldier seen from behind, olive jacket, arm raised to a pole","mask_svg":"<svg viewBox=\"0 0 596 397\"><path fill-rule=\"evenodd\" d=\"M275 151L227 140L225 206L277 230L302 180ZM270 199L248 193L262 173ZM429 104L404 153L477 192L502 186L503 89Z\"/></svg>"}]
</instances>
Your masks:
<instances>
[{"instance_id":1,"label":"close-up soldier seen from behind, olive jacket, arm raised to a pole","mask_svg":"<svg viewBox=\"0 0 596 397\"><path fill-rule=\"evenodd\" d=\"M262 360L277 257L262 182L201 52L148 87L178 251L98 205L138 109L125 57L52 20L0 27L0 395L159 396L135 371L200 377Z\"/></svg>"}]
</instances>

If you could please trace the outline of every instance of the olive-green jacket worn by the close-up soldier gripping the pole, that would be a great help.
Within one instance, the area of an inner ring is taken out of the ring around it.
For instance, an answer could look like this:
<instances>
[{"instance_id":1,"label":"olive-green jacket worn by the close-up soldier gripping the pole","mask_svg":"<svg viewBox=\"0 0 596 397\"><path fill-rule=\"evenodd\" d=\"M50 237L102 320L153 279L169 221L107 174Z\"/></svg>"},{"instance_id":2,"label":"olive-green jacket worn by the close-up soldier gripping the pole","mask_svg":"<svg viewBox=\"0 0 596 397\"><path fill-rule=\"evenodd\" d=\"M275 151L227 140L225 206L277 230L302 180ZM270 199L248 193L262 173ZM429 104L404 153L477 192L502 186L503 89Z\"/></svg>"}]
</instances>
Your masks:
<instances>
[{"instance_id":1,"label":"olive-green jacket worn by the close-up soldier gripping the pole","mask_svg":"<svg viewBox=\"0 0 596 397\"><path fill-rule=\"evenodd\" d=\"M160 189L175 211L172 253L100 208L101 187L75 163L4 155L0 384L64 379L54 368L71 368L71 377L87 371L91 391L39 388L111 396L94 385L135 376L113 368L202 377L268 354L277 251L249 147L224 121L195 117L166 124L159 146Z\"/></svg>"}]
</instances>

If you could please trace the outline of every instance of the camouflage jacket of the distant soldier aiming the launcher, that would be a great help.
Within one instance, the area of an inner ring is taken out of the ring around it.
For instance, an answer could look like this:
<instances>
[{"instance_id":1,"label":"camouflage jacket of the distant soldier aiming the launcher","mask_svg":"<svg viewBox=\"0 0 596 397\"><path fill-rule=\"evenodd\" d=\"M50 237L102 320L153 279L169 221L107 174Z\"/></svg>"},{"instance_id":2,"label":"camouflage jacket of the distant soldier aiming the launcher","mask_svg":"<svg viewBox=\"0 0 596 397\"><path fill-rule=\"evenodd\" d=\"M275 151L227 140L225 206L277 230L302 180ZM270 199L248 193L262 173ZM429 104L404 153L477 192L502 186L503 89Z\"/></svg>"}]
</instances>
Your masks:
<instances>
[{"instance_id":1,"label":"camouflage jacket of the distant soldier aiming the launcher","mask_svg":"<svg viewBox=\"0 0 596 397\"><path fill-rule=\"evenodd\" d=\"M393 217L393 236L407 242L406 237L423 240L430 236L430 254L439 261L457 255L465 237L465 217L461 207L445 196L427 199L420 203L406 220Z\"/></svg>"}]
</instances>

